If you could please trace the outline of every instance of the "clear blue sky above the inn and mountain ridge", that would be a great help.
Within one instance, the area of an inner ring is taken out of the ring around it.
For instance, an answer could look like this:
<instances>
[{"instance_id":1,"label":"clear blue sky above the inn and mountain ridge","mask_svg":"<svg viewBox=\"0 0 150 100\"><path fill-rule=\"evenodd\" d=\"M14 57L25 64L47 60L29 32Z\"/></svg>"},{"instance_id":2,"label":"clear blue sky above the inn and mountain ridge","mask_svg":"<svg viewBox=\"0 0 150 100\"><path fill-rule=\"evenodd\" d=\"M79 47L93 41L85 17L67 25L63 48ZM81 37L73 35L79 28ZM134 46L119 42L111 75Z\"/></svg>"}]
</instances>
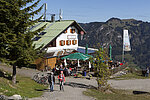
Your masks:
<instances>
[{"instance_id":1,"label":"clear blue sky above the inn and mountain ridge","mask_svg":"<svg viewBox=\"0 0 150 100\"><path fill-rule=\"evenodd\" d=\"M80 23L105 22L112 17L150 21L150 0L41 0L39 6L43 3L48 5L47 19L50 14L58 19L62 9L64 20Z\"/></svg>"}]
</instances>

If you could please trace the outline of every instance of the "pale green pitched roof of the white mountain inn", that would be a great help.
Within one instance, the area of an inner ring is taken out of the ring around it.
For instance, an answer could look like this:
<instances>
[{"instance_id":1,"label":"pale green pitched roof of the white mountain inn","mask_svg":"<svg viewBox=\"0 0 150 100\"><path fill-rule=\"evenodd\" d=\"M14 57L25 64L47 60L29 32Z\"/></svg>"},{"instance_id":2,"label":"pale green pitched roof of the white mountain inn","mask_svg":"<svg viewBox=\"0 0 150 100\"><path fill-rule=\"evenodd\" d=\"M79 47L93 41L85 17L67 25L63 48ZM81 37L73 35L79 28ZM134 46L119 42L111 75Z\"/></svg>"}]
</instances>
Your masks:
<instances>
[{"instance_id":1,"label":"pale green pitched roof of the white mountain inn","mask_svg":"<svg viewBox=\"0 0 150 100\"><path fill-rule=\"evenodd\" d=\"M79 31L85 32L85 30L74 20L62 20L56 22L38 22L32 27L31 31L35 31L45 24L47 24L45 30L40 33L41 35L35 38L35 41L33 41L33 44L35 44L35 48L39 48L41 45L45 47L49 42L55 39L59 34L61 34L71 25L75 25L75 27Z\"/></svg>"}]
</instances>

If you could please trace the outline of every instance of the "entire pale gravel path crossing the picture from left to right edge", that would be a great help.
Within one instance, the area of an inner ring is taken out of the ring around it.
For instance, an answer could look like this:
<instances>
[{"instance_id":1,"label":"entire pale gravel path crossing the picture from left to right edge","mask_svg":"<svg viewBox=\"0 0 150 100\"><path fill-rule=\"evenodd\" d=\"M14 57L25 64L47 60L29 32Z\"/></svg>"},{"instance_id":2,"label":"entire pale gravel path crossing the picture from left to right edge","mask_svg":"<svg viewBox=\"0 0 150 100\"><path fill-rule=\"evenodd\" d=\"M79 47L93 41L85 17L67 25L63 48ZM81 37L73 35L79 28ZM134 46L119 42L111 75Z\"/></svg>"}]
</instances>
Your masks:
<instances>
[{"instance_id":1,"label":"entire pale gravel path crossing the picture from left to right edge","mask_svg":"<svg viewBox=\"0 0 150 100\"><path fill-rule=\"evenodd\" d=\"M12 72L12 67L0 65L0 69ZM39 71L35 69L17 69L18 75L24 75L27 77L33 77L35 73ZM109 80L108 83L115 89L130 89L133 91L145 91L150 92L150 79L132 79L132 80ZM91 87L96 87L97 82L95 79L85 78L72 78L67 77L64 86L65 91L59 91L59 84L56 77L56 84L54 85L54 92L44 91L41 97L30 98L29 100L94 100L92 97L83 95L83 91Z\"/></svg>"}]
</instances>

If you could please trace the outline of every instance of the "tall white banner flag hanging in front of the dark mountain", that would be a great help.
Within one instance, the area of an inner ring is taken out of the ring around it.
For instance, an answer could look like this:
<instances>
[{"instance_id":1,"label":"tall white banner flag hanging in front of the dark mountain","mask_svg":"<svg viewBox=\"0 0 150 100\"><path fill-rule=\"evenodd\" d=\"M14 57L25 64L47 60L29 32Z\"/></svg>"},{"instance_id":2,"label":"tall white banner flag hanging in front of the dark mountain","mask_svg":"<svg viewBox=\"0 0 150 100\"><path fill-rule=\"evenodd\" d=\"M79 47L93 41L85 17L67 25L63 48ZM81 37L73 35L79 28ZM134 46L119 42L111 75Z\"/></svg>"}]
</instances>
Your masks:
<instances>
[{"instance_id":1,"label":"tall white banner flag hanging in front of the dark mountain","mask_svg":"<svg viewBox=\"0 0 150 100\"><path fill-rule=\"evenodd\" d=\"M131 51L128 30L123 30L123 50Z\"/></svg>"}]
</instances>

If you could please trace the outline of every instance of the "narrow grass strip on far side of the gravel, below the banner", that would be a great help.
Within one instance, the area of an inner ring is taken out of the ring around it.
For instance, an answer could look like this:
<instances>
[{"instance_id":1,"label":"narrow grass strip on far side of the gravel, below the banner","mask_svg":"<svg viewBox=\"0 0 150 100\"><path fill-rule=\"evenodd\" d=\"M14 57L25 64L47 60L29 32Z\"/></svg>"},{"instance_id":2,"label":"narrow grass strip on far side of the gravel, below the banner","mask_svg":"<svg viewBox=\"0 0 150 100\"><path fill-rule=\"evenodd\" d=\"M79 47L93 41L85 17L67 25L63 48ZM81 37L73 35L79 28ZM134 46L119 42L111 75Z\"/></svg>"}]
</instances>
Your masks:
<instances>
[{"instance_id":1,"label":"narrow grass strip on far side of the gravel, below the banner","mask_svg":"<svg viewBox=\"0 0 150 100\"><path fill-rule=\"evenodd\" d=\"M143 77L143 76L141 76L141 74L138 74L138 73L128 73L126 75L115 77L115 78L112 78L112 79L128 80L128 79L148 79L148 78L149 77Z\"/></svg>"}]
</instances>

